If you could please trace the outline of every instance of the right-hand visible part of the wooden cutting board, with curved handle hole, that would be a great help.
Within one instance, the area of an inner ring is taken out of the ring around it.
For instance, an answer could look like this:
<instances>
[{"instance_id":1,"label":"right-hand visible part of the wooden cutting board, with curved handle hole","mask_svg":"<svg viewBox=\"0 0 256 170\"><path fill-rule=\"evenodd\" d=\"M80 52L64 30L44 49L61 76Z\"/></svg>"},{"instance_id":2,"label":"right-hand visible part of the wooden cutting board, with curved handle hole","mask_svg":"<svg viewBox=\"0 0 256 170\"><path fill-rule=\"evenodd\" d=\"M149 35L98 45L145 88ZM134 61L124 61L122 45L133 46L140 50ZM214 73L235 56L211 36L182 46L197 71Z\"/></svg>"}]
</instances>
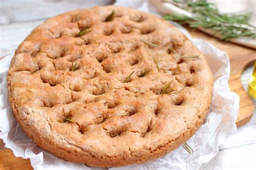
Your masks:
<instances>
[{"instance_id":1,"label":"right-hand visible part of the wooden cutting board, with curved handle hole","mask_svg":"<svg viewBox=\"0 0 256 170\"><path fill-rule=\"evenodd\" d=\"M234 91L240 97L240 109L237 117L237 126L244 125L250 121L254 111L254 103L246 93L240 81L242 71L245 70L248 63L256 60L256 51L252 48L242 47L230 42L223 42L212 38L198 30L188 29L193 38L200 38L210 42L212 45L224 51L230 58L231 72L228 84L230 90ZM256 43L256 42L255 42Z\"/></svg>"}]
</instances>

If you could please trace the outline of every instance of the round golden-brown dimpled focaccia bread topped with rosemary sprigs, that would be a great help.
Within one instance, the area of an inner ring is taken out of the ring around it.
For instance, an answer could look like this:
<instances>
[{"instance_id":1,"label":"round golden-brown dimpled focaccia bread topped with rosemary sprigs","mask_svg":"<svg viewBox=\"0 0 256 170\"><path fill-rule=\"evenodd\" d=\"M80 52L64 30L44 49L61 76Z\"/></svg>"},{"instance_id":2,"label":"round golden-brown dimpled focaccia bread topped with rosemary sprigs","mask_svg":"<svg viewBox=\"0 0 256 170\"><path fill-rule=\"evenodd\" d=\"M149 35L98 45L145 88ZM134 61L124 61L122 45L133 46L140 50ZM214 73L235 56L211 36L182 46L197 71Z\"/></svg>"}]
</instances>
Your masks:
<instances>
[{"instance_id":1,"label":"round golden-brown dimpled focaccia bread topped with rosemary sprigs","mask_svg":"<svg viewBox=\"0 0 256 170\"><path fill-rule=\"evenodd\" d=\"M64 160L112 167L159 158L204 122L205 57L176 27L97 6L46 20L16 49L9 100L23 130Z\"/></svg>"}]
</instances>

